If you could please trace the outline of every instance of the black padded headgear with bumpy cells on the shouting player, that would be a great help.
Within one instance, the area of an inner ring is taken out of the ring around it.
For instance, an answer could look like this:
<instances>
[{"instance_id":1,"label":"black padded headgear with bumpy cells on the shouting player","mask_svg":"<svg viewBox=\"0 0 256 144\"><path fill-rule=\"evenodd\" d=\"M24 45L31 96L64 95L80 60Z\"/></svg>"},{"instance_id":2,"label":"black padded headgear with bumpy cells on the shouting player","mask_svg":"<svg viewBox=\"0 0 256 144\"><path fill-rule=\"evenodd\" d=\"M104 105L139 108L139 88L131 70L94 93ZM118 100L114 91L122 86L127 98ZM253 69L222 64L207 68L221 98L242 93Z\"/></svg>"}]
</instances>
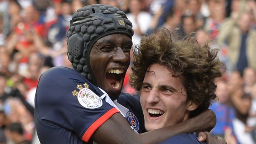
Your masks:
<instances>
[{"instance_id":1,"label":"black padded headgear with bumpy cells on the shouting player","mask_svg":"<svg viewBox=\"0 0 256 144\"><path fill-rule=\"evenodd\" d=\"M90 65L90 51L100 38L111 34L125 34L132 38L132 23L117 7L96 4L80 8L74 13L67 31L68 59L73 68L97 85Z\"/></svg>"}]
</instances>

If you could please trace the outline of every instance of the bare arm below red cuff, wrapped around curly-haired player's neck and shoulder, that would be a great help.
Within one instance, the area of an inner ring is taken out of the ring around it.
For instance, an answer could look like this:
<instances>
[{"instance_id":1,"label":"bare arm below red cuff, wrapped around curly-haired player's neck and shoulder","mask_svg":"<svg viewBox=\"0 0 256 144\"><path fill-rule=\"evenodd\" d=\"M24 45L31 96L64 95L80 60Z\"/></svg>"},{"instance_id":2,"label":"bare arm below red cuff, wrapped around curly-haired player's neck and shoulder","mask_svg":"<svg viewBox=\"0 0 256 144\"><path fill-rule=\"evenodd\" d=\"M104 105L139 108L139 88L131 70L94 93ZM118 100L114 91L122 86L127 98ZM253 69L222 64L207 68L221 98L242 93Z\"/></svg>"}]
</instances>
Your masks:
<instances>
[{"instance_id":1,"label":"bare arm below red cuff, wrapped around curly-haired player's neck and shoulder","mask_svg":"<svg viewBox=\"0 0 256 144\"><path fill-rule=\"evenodd\" d=\"M127 120L120 113L116 113L103 123L91 138L97 143L105 144L156 144L181 133L210 131L215 126L215 123L215 114L213 111L207 110L197 117L176 125L137 134L130 128Z\"/></svg>"}]
</instances>

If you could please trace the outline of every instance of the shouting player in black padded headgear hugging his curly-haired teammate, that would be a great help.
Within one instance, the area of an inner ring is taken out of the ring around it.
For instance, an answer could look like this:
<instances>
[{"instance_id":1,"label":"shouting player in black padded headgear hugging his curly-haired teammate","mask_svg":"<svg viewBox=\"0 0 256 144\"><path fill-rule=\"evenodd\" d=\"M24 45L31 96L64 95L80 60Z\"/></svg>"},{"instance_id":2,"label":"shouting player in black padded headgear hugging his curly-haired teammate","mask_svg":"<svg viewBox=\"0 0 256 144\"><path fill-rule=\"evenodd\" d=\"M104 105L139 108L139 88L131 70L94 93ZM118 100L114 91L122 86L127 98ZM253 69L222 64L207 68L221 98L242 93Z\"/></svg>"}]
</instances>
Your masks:
<instances>
[{"instance_id":1,"label":"shouting player in black padded headgear hugging his curly-haired teammate","mask_svg":"<svg viewBox=\"0 0 256 144\"><path fill-rule=\"evenodd\" d=\"M37 86L35 124L42 144L159 143L215 125L214 114L206 111L178 125L143 133L139 99L121 93L132 35L132 23L116 7L89 5L74 14L67 31L72 68L47 70Z\"/></svg>"}]
</instances>

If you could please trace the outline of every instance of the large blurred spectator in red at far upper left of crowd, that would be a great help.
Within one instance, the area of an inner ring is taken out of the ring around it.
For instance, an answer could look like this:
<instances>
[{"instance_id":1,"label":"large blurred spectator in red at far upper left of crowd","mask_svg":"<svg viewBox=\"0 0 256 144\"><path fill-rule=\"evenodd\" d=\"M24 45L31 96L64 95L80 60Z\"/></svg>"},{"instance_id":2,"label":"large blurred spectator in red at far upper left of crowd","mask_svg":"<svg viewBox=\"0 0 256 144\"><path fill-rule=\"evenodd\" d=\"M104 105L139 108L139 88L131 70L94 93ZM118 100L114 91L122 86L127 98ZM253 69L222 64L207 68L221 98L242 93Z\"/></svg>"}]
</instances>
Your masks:
<instances>
[{"instance_id":1,"label":"large blurred spectator in red at far upper left of crowd","mask_svg":"<svg viewBox=\"0 0 256 144\"><path fill-rule=\"evenodd\" d=\"M31 30L37 31L40 36L43 35L43 24L39 22L40 15L34 6L27 6L23 11L24 21L17 24L14 33L10 36L10 41L7 42L7 52L17 59L21 75L24 75L22 72L28 68L28 57L36 51Z\"/></svg>"}]
</instances>

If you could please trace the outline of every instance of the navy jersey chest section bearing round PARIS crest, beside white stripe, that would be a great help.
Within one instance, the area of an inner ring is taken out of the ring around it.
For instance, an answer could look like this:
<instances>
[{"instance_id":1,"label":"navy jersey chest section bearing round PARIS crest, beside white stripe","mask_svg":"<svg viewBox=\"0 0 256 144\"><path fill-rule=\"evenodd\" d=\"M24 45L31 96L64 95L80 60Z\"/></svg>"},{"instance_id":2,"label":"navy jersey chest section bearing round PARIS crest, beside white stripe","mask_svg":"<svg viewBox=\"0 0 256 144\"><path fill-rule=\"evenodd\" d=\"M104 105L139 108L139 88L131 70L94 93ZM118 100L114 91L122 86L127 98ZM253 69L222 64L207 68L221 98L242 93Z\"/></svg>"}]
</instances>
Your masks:
<instances>
[{"instance_id":1,"label":"navy jersey chest section bearing round PARIS crest, beside white stripe","mask_svg":"<svg viewBox=\"0 0 256 144\"><path fill-rule=\"evenodd\" d=\"M128 93L121 93L117 98L117 102L130 110L125 114L125 117L133 129L138 133L146 132L139 96L131 96Z\"/></svg>"}]
</instances>

